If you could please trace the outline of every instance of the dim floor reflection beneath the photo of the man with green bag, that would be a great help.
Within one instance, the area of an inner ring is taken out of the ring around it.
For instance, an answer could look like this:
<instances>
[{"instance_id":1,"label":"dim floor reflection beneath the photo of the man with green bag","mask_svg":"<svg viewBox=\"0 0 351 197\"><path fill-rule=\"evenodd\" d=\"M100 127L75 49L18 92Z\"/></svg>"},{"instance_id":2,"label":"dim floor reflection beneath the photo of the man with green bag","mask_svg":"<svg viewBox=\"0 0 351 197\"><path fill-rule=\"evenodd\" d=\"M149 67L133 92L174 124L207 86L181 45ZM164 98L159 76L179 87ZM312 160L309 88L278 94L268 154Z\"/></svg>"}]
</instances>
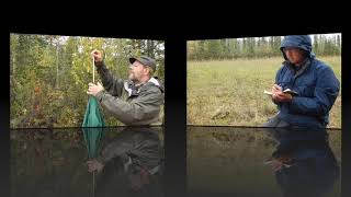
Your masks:
<instances>
[{"instance_id":1,"label":"dim floor reflection beneath the photo of the man with green bag","mask_svg":"<svg viewBox=\"0 0 351 197\"><path fill-rule=\"evenodd\" d=\"M165 196L160 127L12 129L12 197Z\"/></svg>"}]
</instances>

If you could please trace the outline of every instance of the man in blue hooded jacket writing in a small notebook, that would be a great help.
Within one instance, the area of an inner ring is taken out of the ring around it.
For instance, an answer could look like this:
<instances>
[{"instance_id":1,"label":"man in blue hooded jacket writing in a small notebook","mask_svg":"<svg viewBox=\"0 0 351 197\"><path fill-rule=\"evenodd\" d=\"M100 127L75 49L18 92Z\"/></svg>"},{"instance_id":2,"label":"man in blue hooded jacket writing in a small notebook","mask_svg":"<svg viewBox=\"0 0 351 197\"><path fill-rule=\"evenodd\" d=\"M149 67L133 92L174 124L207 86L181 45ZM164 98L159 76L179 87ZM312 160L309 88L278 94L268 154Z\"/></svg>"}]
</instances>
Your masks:
<instances>
[{"instance_id":1,"label":"man in blue hooded jacket writing in a small notebook","mask_svg":"<svg viewBox=\"0 0 351 197\"><path fill-rule=\"evenodd\" d=\"M308 35L290 35L282 40L285 61L272 86L272 101L279 113L264 127L326 128L340 89L340 82L325 62L312 51ZM291 89L297 95L283 93Z\"/></svg>"}]
</instances>

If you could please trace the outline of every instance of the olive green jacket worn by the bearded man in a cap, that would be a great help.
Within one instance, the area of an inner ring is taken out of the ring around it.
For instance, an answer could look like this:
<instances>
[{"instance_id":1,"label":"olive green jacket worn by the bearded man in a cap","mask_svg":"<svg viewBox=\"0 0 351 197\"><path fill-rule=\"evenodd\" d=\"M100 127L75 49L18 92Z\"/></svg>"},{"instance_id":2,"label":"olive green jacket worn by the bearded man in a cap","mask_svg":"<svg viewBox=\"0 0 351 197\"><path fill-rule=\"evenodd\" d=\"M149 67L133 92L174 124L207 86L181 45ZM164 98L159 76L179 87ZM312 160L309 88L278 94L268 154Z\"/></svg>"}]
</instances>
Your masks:
<instances>
[{"instance_id":1,"label":"olive green jacket worn by the bearded man in a cap","mask_svg":"<svg viewBox=\"0 0 351 197\"><path fill-rule=\"evenodd\" d=\"M151 78L140 86L129 80L116 79L104 63L98 73L105 90L95 97L104 109L125 125L159 125L163 88L159 80Z\"/></svg>"}]
</instances>

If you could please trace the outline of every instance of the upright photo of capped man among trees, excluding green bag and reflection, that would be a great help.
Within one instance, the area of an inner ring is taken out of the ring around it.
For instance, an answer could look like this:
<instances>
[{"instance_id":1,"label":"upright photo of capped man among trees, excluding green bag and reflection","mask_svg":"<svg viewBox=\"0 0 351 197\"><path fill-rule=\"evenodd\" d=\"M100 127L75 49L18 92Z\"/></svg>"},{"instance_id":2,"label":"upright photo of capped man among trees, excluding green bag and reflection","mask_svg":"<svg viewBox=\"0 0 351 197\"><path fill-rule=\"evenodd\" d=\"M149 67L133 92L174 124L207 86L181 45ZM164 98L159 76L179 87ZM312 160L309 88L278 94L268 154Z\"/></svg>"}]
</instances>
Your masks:
<instances>
[{"instance_id":1,"label":"upright photo of capped man among trees, excluding green bag and reflection","mask_svg":"<svg viewBox=\"0 0 351 197\"><path fill-rule=\"evenodd\" d=\"M10 128L162 125L165 42L10 34Z\"/></svg>"}]
</instances>

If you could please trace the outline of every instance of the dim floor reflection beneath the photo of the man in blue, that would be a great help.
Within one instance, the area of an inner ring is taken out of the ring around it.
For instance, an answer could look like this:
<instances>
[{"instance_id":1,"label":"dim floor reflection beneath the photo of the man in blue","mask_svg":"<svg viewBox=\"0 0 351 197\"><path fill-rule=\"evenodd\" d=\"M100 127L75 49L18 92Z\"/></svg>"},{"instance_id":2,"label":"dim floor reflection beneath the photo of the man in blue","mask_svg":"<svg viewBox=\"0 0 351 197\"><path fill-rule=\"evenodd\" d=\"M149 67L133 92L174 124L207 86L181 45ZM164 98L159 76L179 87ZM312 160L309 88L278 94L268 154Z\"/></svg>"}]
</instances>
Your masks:
<instances>
[{"instance_id":1,"label":"dim floor reflection beneath the photo of the man in blue","mask_svg":"<svg viewBox=\"0 0 351 197\"><path fill-rule=\"evenodd\" d=\"M341 130L188 127L188 195L340 197Z\"/></svg>"}]
</instances>

